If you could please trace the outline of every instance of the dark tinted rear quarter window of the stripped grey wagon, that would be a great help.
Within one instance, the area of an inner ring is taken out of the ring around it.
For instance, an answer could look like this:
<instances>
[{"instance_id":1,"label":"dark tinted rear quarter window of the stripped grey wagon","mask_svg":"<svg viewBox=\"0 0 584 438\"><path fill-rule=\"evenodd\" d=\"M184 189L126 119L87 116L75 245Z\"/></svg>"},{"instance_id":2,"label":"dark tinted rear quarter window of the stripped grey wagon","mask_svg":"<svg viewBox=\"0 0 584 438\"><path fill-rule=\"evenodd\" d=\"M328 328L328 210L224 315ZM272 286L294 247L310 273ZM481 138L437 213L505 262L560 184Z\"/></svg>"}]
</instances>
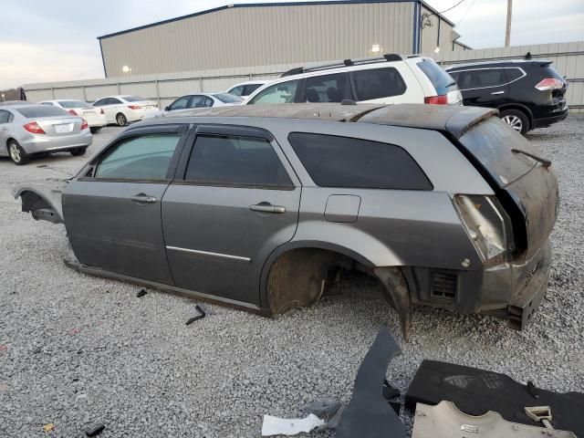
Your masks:
<instances>
[{"instance_id":1,"label":"dark tinted rear quarter window of the stripped grey wagon","mask_svg":"<svg viewBox=\"0 0 584 438\"><path fill-rule=\"evenodd\" d=\"M288 141L321 187L433 190L412 156L395 144L291 132Z\"/></svg>"}]
</instances>

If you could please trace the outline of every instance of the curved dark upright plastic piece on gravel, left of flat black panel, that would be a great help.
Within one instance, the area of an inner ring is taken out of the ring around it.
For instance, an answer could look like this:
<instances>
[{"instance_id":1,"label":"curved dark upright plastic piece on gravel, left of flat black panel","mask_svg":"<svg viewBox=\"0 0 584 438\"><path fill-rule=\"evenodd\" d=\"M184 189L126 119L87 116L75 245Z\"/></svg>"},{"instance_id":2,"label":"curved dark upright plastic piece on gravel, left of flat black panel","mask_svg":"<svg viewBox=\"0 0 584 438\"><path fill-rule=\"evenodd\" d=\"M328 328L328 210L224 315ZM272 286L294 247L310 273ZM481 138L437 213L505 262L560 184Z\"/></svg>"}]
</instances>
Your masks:
<instances>
[{"instance_id":1,"label":"curved dark upright plastic piece on gravel, left of flat black panel","mask_svg":"<svg viewBox=\"0 0 584 438\"><path fill-rule=\"evenodd\" d=\"M387 328L382 328L362 361L353 396L337 427L337 438L402 438L405 427L383 395L390 360L401 354Z\"/></svg>"}]
</instances>

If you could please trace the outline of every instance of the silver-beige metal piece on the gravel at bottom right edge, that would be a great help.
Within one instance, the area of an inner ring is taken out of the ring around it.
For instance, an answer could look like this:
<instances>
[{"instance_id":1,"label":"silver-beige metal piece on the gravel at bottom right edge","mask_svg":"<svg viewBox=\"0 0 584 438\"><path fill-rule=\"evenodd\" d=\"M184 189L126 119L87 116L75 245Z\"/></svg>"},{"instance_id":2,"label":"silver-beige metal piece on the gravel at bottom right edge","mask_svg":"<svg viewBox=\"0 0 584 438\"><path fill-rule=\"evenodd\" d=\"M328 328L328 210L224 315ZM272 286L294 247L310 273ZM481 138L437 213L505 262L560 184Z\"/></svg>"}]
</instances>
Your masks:
<instances>
[{"instance_id":1,"label":"silver-beige metal piece on the gravel at bottom right edge","mask_svg":"<svg viewBox=\"0 0 584 438\"><path fill-rule=\"evenodd\" d=\"M413 422L412 438L576 438L574 433L507 422L493 411L485 415L467 415L452 401L435 406L418 403Z\"/></svg>"}]
</instances>

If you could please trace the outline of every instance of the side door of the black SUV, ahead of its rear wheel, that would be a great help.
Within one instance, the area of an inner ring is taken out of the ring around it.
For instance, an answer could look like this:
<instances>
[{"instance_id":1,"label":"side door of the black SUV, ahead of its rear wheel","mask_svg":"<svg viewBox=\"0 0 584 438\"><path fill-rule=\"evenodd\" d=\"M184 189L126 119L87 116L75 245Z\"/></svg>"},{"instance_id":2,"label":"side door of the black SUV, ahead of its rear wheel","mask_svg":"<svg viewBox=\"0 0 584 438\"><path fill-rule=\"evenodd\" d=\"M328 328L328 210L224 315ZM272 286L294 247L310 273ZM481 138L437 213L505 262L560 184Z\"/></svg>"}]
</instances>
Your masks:
<instances>
[{"instance_id":1,"label":"side door of the black SUV, ahead of its rear wheel","mask_svg":"<svg viewBox=\"0 0 584 438\"><path fill-rule=\"evenodd\" d=\"M506 102L509 85L505 68L475 68L452 73L464 105L498 108Z\"/></svg>"}]
</instances>

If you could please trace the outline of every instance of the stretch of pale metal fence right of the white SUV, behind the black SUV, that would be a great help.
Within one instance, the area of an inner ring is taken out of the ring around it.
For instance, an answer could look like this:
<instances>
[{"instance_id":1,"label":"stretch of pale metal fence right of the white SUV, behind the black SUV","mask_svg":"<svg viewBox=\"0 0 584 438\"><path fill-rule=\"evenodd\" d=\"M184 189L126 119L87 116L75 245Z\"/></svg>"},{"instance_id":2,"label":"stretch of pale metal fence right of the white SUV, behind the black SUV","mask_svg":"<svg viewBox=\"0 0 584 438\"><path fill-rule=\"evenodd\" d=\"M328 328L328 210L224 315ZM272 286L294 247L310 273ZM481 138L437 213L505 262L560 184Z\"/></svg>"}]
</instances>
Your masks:
<instances>
[{"instance_id":1,"label":"stretch of pale metal fence right of the white SUV, behind the black SUV","mask_svg":"<svg viewBox=\"0 0 584 438\"><path fill-rule=\"evenodd\" d=\"M534 46L496 47L479 50L430 53L444 65L460 64L477 60L512 59L532 57L553 61L553 67L568 79L568 106L572 111L584 112L584 41Z\"/></svg>"}]
</instances>

